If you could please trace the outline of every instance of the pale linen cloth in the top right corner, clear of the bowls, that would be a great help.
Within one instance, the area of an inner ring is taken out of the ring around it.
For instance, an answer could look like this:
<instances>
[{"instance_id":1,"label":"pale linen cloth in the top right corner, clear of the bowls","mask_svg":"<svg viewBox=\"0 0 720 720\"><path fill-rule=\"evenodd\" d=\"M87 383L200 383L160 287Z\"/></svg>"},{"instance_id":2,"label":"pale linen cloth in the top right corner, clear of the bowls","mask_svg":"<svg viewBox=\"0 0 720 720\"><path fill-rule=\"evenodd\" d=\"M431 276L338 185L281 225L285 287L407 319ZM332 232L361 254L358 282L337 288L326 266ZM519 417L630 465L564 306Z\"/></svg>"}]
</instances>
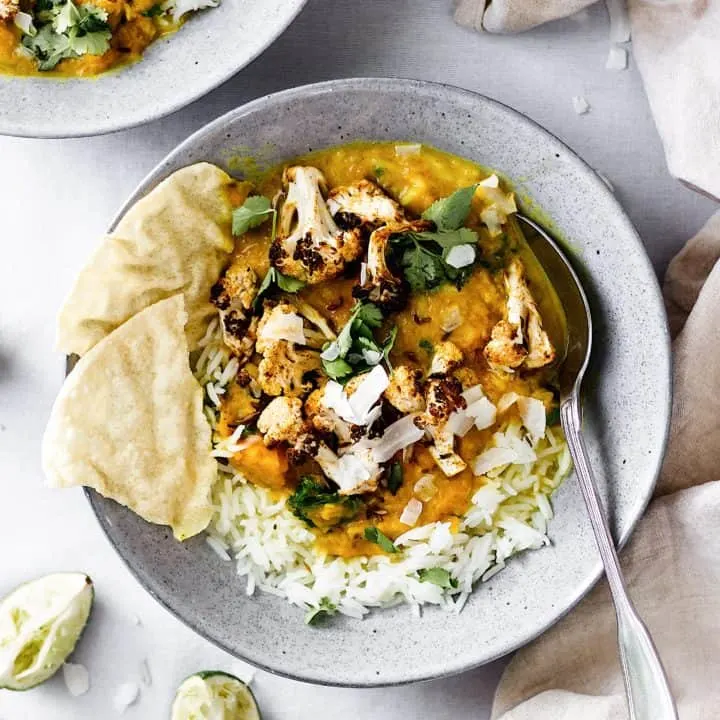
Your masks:
<instances>
[{"instance_id":1,"label":"pale linen cloth in the top right corner, clear of the bowls","mask_svg":"<svg viewBox=\"0 0 720 720\"><path fill-rule=\"evenodd\" d=\"M520 32L595 0L456 0L462 25ZM632 52L670 172L720 198L720 2L628 0Z\"/></svg>"}]
</instances>

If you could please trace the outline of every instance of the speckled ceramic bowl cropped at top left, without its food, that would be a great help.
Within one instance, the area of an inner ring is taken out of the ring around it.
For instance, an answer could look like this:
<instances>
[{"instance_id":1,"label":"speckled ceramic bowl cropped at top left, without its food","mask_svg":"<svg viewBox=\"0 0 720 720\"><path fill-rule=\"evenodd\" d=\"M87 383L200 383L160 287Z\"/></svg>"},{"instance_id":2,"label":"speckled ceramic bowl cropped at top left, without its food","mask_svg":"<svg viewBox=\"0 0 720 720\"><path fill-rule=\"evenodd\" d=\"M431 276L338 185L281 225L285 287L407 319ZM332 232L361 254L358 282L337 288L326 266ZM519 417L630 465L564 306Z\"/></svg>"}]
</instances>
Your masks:
<instances>
[{"instance_id":1,"label":"speckled ceramic bowl cropped at top left, without its food","mask_svg":"<svg viewBox=\"0 0 720 720\"><path fill-rule=\"evenodd\" d=\"M307 0L222 0L154 42L142 60L96 78L0 75L0 134L100 135L179 110L232 77Z\"/></svg>"}]
</instances>

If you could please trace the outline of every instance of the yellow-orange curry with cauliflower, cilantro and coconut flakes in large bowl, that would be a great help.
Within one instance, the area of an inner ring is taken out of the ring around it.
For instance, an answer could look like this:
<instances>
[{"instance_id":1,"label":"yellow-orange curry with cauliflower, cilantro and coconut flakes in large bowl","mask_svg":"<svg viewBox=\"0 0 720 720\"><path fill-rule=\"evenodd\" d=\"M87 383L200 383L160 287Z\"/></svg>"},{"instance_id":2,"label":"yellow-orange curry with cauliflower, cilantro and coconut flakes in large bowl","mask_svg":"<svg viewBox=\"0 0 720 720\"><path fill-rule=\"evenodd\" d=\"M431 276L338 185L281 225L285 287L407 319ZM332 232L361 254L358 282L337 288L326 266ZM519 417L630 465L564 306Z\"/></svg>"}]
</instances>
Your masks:
<instances>
[{"instance_id":1,"label":"yellow-orange curry with cauliflower, cilantro and coconut flakes in large bowl","mask_svg":"<svg viewBox=\"0 0 720 720\"><path fill-rule=\"evenodd\" d=\"M242 433L231 465L331 555L459 527L496 433L557 423L562 313L512 192L468 160L366 143L274 168L234 201L213 291L240 368L217 427Z\"/></svg>"}]
</instances>

